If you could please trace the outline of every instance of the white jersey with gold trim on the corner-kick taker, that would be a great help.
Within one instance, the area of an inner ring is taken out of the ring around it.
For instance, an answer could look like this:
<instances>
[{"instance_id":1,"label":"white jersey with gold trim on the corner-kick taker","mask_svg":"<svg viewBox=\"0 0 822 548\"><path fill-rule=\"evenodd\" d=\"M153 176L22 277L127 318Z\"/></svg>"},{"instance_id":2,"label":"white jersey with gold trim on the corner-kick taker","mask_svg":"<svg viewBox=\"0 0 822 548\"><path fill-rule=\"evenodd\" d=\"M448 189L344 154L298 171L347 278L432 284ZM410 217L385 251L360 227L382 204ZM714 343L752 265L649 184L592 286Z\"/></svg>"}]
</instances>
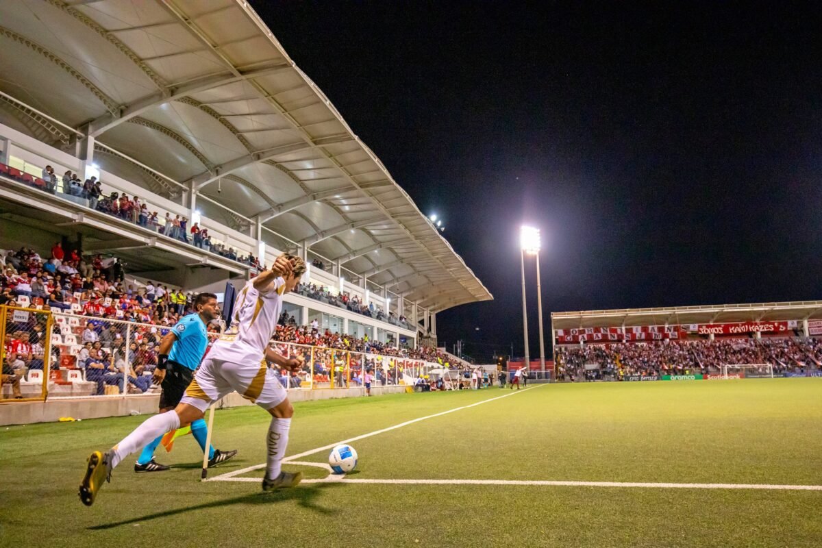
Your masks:
<instances>
[{"instance_id":1,"label":"white jersey with gold trim on the corner-kick taker","mask_svg":"<svg viewBox=\"0 0 822 548\"><path fill-rule=\"evenodd\" d=\"M208 357L241 365L258 365L277 329L284 292L285 280L282 278L275 279L266 292L257 291L253 281L246 283L234 303L231 320L231 330L236 326L237 336L233 340L218 340Z\"/></svg>"}]
</instances>

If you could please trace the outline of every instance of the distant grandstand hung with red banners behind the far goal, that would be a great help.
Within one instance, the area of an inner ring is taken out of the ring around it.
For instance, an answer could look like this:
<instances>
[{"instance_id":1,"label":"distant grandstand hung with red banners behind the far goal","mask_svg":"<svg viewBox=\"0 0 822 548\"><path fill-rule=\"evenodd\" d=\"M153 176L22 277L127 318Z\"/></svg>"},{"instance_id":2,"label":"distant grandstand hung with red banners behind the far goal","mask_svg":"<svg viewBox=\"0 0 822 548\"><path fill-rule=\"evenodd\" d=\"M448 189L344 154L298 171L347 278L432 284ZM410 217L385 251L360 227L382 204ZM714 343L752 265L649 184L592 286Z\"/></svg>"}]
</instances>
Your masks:
<instances>
[{"instance_id":1,"label":"distant grandstand hung with red banners behind the far goal","mask_svg":"<svg viewBox=\"0 0 822 548\"><path fill-rule=\"evenodd\" d=\"M551 315L559 380L822 375L822 301ZM534 369L533 362L531 369Z\"/></svg>"}]
</instances>

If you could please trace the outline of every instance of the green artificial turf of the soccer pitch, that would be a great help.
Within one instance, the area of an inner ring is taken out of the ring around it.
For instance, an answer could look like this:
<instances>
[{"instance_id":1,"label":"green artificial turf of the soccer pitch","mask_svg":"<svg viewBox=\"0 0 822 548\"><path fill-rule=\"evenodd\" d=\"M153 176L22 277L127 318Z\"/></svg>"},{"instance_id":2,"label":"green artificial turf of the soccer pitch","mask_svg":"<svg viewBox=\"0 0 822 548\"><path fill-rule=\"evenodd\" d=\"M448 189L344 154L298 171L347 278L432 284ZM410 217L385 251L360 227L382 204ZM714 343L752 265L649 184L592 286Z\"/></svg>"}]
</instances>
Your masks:
<instances>
[{"instance_id":1,"label":"green artificial turf of the soccer pitch","mask_svg":"<svg viewBox=\"0 0 822 548\"><path fill-rule=\"evenodd\" d=\"M296 403L289 454L503 394ZM215 445L240 454L212 477L265 461L267 417L217 412ZM822 491L315 483L262 495L198 481L191 436L158 450L172 471L136 475L128 458L82 506L87 455L144 419L0 429L0 546L822 546ZM358 440L351 477L822 485L820 424L820 379L542 385Z\"/></svg>"}]
</instances>

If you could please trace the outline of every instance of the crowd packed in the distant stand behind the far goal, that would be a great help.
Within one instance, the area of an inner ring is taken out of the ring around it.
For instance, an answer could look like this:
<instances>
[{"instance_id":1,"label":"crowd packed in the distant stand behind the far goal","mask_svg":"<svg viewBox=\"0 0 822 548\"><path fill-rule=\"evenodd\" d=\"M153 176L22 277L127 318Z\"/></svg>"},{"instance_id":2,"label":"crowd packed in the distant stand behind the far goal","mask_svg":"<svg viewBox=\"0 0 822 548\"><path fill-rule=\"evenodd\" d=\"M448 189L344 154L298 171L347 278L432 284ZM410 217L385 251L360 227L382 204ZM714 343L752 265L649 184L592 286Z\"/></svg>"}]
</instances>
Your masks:
<instances>
[{"instance_id":1,"label":"crowd packed in the distant stand behind the far goal","mask_svg":"<svg viewBox=\"0 0 822 548\"><path fill-rule=\"evenodd\" d=\"M715 373L725 365L742 364L769 364L775 373L782 373L822 369L822 340L729 338L590 344L557 348L555 361L561 377Z\"/></svg>"}]
</instances>

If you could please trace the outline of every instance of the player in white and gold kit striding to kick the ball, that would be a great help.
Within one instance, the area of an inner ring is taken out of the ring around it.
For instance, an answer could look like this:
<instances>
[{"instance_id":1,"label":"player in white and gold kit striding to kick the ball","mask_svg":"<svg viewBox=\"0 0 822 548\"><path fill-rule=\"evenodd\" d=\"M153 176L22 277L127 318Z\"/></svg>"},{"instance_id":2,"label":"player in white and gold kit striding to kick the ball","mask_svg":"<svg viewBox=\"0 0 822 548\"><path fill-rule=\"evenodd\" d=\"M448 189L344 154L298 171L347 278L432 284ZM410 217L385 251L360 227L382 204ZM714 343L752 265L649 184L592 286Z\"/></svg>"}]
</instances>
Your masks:
<instances>
[{"instance_id":1,"label":"player in white and gold kit striding to kick the ball","mask_svg":"<svg viewBox=\"0 0 822 548\"><path fill-rule=\"evenodd\" d=\"M91 454L80 486L83 504L94 504L99 488L110 481L113 468L123 458L142 449L158 435L202 418L211 403L232 391L271 414L262 489L293 487L302 480L302 472L281 470L294 410L283 385L268 368L266 360L290 371L302 366L302 357L289 359L281 356L271 350L268 343L275 334L282 311L282 296L298 286L305 270L305 262L299 257L281 255L270 270L246 283L234 306L233 324L238 327L236 338L221 339L212 346L177 408L150 417L109 451Z\"/></svg>"}]
</instances>

